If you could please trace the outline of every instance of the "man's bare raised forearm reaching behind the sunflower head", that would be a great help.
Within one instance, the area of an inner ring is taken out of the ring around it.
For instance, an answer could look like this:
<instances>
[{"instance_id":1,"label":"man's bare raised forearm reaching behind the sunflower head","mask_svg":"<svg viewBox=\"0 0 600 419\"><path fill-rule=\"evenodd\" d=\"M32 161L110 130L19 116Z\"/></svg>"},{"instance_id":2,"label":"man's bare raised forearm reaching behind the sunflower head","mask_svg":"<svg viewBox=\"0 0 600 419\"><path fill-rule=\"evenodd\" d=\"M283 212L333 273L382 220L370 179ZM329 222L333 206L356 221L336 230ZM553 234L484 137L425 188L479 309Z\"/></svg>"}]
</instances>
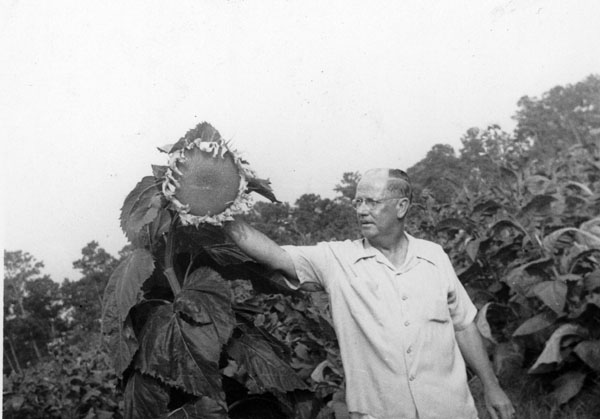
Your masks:
<instances>
[{"instance_id":1,"label":"man's bare raised forearm reaching behind the sunflower head","mask_svg":"<svg viewBox=\"0 0 600 419\"><path fill-rule=\"evenodd\" d=\"M233 242L252 259L280 271L290 282L298 284L292 258L273 240L241 220L225 223L224 229Z\"/></svg>"}]
</instances>

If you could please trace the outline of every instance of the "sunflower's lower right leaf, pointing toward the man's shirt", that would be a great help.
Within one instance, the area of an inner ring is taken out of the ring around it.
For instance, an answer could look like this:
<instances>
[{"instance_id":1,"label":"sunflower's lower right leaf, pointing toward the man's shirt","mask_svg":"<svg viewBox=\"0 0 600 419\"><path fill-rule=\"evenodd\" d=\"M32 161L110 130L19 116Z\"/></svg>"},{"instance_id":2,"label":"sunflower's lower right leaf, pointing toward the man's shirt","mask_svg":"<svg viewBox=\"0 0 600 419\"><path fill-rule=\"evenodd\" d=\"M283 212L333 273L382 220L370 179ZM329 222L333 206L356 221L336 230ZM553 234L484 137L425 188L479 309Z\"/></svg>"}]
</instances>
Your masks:
<instances>
[{"instance_id":1,"label":"sunflower's lower right leaf, pointing toward the man's shirt","mask_svg":"<svg viewBox=\"0 0 600 419\"><path fill-rule=\"evenodd\" d=\"M245 330L246 333L232 341L227 353L238 365L245 367L262 391L287 392L308 388L260 335L247 328Z\"/></svg>"}]
</instances>

